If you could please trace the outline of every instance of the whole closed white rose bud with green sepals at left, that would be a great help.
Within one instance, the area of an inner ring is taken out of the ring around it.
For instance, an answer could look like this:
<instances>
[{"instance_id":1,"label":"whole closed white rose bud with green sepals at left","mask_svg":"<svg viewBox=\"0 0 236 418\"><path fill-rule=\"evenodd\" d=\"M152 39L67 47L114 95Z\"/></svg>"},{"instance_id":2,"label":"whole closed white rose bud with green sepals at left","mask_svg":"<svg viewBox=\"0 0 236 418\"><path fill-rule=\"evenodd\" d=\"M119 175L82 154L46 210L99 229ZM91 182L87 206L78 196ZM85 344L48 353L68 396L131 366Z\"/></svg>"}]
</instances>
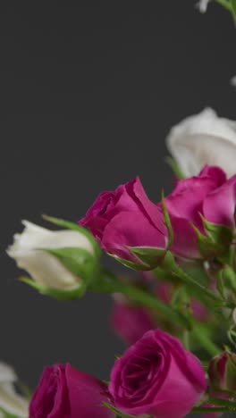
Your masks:
<instances>
[{"instance_id":1,"label":"whole closed white rose bud with green sepals at left","mask_svg":"<svg viewBox=\"0 0 236 418\"><path fill-rule=\"evenodd\" d=\"M80 230L53 231L22 223L25 229L14 235L7 254L30 273L31 279L23 281L52 297L80 297L97 268L94 238L76 224Z\"/></svg>"}]
</instances>

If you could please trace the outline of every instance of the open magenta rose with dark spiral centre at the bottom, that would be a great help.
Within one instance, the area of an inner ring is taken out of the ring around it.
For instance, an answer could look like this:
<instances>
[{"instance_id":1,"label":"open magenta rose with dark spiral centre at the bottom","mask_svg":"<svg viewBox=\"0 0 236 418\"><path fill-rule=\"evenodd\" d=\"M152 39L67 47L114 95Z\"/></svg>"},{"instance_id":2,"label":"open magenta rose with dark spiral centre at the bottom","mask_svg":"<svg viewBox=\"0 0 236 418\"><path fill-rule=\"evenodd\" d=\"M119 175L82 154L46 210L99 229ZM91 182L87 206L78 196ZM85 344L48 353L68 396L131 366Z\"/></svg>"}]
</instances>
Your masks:
<instances>
[{"instance_id":1,"label":"open magenta rose with dark spiral centre at the bottom","mask_svg":"<svg viewBox=\"0 0 236 418\"><path fill-rule=\"evenodd\" d=\"M197 357L178 339L150 330L116 360L109 391L123 414L182 418L206 390Z\"/></svg>"}]
</instances>

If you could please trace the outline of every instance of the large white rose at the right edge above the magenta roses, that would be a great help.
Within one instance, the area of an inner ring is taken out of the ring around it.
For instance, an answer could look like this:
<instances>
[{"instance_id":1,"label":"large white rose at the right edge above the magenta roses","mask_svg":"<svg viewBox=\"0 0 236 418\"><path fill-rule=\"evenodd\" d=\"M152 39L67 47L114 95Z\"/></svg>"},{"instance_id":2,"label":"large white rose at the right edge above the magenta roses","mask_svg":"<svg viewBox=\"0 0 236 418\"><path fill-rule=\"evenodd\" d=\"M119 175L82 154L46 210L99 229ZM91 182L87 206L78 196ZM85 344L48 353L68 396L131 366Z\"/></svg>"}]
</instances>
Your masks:
<instances>
[{"instance_id":1,"label":"large white rose at the right edge above the magenta roses","mask_svg":"<svg viewBox=\"0 0 236 418\"><path fill-rule=\"evenodd\" d=\"M236 173L236 122L219 118L212 109L174 126L166 145L187 177L206 164L219 165L228 177Z\"/></svg>"}]
</instances>

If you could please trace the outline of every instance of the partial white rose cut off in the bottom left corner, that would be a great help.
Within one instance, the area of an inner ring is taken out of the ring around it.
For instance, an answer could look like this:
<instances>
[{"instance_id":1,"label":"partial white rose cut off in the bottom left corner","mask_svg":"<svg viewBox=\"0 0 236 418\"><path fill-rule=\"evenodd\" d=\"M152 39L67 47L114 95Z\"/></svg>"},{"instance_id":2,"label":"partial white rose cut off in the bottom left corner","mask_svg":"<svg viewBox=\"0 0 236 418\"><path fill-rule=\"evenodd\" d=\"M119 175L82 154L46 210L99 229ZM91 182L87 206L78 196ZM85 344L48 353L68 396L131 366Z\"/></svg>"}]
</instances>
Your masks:
<instances>
[{"instance_id":1,"label":"partial white rose cut off in the bottom left corner","mask_svg":"<svg viewBox=\"0 0 236 418\"><path fill-rule=\"evenodd\" d=\"M14 382L17 376L12 367L7 364L0 363L0 409L3 408L5 413L13 414L19 418L27 418L29 416L29 402L16 393ZM4 417L4 413L0 413L0 417Z\"/></svg>"}]
</instances>

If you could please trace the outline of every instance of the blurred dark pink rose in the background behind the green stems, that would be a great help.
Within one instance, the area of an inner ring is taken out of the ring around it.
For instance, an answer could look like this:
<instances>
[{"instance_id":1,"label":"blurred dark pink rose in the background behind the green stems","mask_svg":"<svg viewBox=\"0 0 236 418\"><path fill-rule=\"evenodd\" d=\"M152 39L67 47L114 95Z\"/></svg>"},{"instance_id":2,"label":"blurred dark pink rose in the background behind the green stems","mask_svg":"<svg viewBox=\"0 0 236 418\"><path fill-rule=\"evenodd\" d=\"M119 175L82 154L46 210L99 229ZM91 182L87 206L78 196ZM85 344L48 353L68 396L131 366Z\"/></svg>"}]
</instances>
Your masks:
<instances>
[{"instance_id":1,"label":"blurred dark pink rose in the background behind the green stems","mask_svg":"<svg viewBox=\"0 0 236 418\"><path fill-rule=\"evenodd\" d=\"M116 301L110 322L114 331L129 346L140 339L147 330L156 328L156 324L151 321L151 316L146 309Z\"/></svg>"}]
</instances>

